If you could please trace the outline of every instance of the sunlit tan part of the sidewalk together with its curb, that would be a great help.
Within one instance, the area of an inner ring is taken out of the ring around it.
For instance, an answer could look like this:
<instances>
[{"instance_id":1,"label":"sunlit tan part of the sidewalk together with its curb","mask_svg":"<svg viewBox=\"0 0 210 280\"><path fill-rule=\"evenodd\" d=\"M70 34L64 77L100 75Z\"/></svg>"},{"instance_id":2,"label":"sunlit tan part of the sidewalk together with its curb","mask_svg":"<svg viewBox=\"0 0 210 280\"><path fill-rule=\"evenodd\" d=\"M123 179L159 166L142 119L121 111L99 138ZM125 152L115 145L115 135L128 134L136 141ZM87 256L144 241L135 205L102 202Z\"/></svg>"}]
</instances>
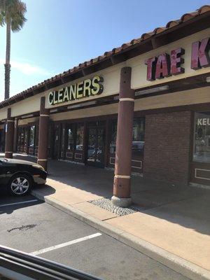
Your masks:
<instances>
[{"instance_id":1,"label":"sunlit tan part of the sidewalk together with its curb","mask_svg":"<svg viewBox=\"0 0 210 280\"><path fill-rule=\"evenodd\" d=\"M210 259L210 237L207 234L209 225L202 224L202 217L200 222L196 222L200 232L192 228L195 223L193 215L199 220L196 210L192 209L192 204L195 203L195 209L198 206L196 197L186 207L184 200L181 200L118 216L87 202L102 196L54 179L48 179L48 186L38 187L32 194L190 279L210 279L210 272L207 271ZM209 207L209 197L204 195L203 200L201 211Z\"/></svg>"}]
</instances>

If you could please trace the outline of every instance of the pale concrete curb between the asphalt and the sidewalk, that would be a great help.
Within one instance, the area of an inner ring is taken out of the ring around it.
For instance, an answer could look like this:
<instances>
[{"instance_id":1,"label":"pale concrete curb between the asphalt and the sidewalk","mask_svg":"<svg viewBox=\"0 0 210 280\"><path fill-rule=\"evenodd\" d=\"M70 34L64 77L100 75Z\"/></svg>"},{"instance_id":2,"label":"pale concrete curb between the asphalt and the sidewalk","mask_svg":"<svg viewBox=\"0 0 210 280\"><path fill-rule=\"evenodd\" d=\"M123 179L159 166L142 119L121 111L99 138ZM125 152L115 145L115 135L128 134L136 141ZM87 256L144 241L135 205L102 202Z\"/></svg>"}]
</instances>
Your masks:
<instances>
[{"instance_id":1,"label":"pale concrete curb between the asphalt and the sidewalk","mask_svg":"<svg viewBox=\"0 0 210 280\"><path fill-rule=\"evenodd\" d=\"M126 244L134 248L135 250L148 255L148 257L153 258L154 260L158 260L158 262L166 265L167 267L173 269L174 271L182 274L183 276L188 277L192 280L210 280L210 272L207 269L199 267L192 262L188 262L188 260L184 260L183 258L178 257L164 249L155 246L139 237L135 237L130 233L125 232L124 230L120 230L118 228L113 227L97 218L90 216L89 214L85 214L83 211L75 209L70 205L67 205L59 200L55 200L52 197L45 197L41 195L38 191L32 190L31 195L34 195L39 200L43 200L46 203L56 207L59 210L64 211L66 214L77 218L87 225L100 230L106 235L109 235L118 241Z\"/></svg>"}]
</instances>

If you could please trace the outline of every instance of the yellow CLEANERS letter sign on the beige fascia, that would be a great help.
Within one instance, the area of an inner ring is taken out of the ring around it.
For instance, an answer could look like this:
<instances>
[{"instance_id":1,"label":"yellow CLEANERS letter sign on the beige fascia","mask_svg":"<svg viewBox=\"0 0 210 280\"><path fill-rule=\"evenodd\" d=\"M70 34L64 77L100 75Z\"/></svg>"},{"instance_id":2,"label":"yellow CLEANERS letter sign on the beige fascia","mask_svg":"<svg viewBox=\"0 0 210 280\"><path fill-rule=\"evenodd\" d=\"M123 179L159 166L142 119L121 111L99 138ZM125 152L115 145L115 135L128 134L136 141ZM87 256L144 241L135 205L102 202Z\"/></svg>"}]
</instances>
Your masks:
<instances>
[{"instance_id":1,"label":"yellow CLEANERS letter sign on the beige fascia","mask_svg":"<svg viewBox=\"0 0 210 280\"><path fill-rule=\"evenodd\" d=\"M61 89L48 94L48 102L50 105L55 105L101 94L104 90L102 85L103 81L104 79L102 77L94 76L92 79L83 80L80 83L74 83L73 85L62 87Z\"/></svg>"}]
</instances>

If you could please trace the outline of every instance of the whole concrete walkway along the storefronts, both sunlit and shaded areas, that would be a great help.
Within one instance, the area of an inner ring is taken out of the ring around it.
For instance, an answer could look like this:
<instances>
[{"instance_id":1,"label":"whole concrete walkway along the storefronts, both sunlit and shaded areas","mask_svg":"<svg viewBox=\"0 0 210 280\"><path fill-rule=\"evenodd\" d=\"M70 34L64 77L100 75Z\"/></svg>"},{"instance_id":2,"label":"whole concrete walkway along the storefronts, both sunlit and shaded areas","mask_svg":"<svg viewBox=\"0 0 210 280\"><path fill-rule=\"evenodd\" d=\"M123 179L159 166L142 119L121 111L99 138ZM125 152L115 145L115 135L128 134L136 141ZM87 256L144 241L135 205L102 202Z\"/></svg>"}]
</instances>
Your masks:
<instances>
[{"instance_id":1,"label":"whole concrete walkway along the storefronts, both sunlit and shaded areas","mask_svg":"<svg viewBox=\"0 0 210 280\"><path fill-rule=\"evenodd\" d=\"M136 246L137 250L143 250L145 241L159 250L160 255L168 253L168 260L174 259L175 263L178 257L178 262L183 262L182 267L191 265L193 273L206 275L206 278L199 278L198 274L186 275L180 267L176 269L177 263L172 267L168 261L159 259L191 279L210 279L209 190L170 186L133 176L132 200L138 211L118 216L89 203L111 197L112 171L50 160L49 172L47 186L33 191L37 197L93 226L96 223L96 228L108 230L106 233L110 235L112 231L112 236L121 241L126 234L130 240L133 237L134 248L139 240L141 246ZM144 253L149 255L148 251ZM153 254L150 256L156 258Z\"/></svg>"}]
</instances>

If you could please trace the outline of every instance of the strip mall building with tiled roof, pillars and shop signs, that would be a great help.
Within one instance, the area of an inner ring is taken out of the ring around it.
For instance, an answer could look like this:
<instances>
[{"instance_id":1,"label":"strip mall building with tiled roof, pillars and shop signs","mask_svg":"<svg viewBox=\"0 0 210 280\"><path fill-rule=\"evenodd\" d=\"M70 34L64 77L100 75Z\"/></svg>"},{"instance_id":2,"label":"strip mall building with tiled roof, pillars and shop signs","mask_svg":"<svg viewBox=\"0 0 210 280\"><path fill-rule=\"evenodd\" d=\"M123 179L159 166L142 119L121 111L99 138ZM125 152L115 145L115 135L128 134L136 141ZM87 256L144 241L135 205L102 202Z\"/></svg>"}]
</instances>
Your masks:
<instances>
[{"instance_id":1,"label":"strip mall building with tiled roof, pillars and shop signs","mask_svg":"<svg viewBox=\"0 0 210 280\"><path fill-rule=\"evenodd\" d=\"M209 185L209 50L203 6L1 102L1 148L115 168L117 200L131 172Z\"/></svg>"}]
</instances>

